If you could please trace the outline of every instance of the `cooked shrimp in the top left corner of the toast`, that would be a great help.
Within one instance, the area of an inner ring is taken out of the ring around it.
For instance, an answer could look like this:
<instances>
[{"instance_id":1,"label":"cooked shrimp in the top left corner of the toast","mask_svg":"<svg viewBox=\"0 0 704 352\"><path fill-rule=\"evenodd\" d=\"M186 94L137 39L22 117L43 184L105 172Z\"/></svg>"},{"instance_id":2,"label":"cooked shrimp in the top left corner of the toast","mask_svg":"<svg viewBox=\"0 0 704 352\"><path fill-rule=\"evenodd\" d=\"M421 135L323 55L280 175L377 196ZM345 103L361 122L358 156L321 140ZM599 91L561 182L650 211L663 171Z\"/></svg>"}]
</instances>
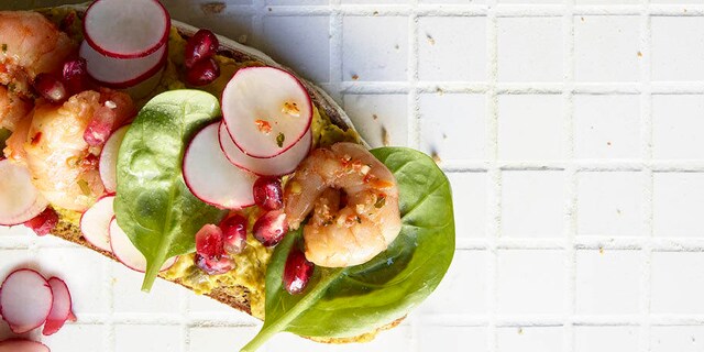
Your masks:
<instances>
[{"instance_id":1,"label":"cooked shrimp in the top left corner of the toast","mask_svg":"<svg viewBox=\"0 0 704 352\"><path fill-rule=\"evenodd\" d=\"M0 84L28 96L41 73L58 73L75 44L54 23L31 11L0 11Z\"/></svg>"}]
</instances>

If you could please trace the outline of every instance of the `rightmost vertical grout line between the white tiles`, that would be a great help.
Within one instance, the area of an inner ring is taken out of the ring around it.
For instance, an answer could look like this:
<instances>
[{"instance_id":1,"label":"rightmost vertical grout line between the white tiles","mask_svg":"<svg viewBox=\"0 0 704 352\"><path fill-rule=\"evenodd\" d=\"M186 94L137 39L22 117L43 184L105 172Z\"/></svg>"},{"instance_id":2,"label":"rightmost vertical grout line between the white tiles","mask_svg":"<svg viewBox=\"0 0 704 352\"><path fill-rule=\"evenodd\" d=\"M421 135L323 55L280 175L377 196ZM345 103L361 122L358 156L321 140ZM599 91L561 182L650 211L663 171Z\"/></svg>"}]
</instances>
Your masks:
<instances>
[{"instance_id":1,"label":"rightmost vertical grout line between the white tiles","mask_svg":"<svg viewBox=\"0 0 704 352\"><path fill-rule=\"evenodd\" d=\"M650 18L650 0L642 0L641 4L641 21L640 21L640 78L641 78L641 94L640 94L640 116L641 116L641 155L646 161L652 160L652 94L651 94L651 55L652 55L652 42L651 42L651 18ZM653 249L653 169L645 167L642 169L644 195L642 195L642 219L644 230L646 231L644 238L644 245L641 250L642 254L642 267L640 278L640 333L639 333L639 351L650 351L650 330L651 330L651 317L650 317L650 287L651 287L651 272L652 272L652 249Z\"/></svg>"}]
</instances>

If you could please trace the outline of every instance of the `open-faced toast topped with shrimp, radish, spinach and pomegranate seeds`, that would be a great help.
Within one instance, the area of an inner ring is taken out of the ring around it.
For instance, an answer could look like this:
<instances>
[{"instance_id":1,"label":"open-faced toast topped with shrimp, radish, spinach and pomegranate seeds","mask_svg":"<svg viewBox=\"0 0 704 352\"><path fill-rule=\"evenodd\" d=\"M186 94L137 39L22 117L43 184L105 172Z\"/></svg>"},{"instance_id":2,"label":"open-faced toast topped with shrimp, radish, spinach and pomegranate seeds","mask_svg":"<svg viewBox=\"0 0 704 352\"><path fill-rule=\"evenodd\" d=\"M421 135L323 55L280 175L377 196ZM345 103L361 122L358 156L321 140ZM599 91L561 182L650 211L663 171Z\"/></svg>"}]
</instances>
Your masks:
<instances>
[{"instance_id":1,"label":"open-faced toast topped with shrimp, radish, spinach and pomegranate seeds","mask_svg":"<svg viewBox=\"0 0 704 352\"><path fill-rule=\"evenodd\" d=\"M450 265L430 157L367 150L320 89L155 0L0 12L0 224L264 320L243 350L370 340Z\"/></svg>"}]
</instances>

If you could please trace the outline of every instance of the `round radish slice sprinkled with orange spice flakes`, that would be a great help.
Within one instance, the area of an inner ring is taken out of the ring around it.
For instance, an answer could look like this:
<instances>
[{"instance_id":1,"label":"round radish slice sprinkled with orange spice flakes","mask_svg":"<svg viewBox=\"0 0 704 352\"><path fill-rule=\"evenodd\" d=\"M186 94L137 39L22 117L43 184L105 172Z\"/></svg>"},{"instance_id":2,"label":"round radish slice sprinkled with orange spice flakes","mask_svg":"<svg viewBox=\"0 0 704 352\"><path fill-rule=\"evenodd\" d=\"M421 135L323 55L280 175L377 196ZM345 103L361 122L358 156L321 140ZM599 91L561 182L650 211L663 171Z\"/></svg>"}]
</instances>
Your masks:
<instances>
[{"instance_id":1,"label":"round radish slice sprinkled with orange spice flakes","mask_svg":"<svg viewBox=\"0 0 704 352\"><path fill-rule=\"evenodd\" d=\"M274 67L239 69L222 91L222 116L234 144L252 157L286 152L310 130L312 103L292 74Z\"/></svg>"}]
</instances>

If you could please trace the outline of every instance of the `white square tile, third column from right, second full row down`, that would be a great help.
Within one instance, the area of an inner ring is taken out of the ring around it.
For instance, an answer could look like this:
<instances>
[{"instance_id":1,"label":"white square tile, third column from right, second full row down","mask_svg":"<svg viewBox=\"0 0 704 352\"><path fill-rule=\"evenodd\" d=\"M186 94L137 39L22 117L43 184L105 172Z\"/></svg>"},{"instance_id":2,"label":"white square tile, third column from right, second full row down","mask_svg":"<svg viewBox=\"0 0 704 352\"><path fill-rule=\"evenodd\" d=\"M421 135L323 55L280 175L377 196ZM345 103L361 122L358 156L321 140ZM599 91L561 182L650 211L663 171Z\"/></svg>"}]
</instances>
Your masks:
<instances>
[{"instance_id":1,"label":"white square tile, third column from right, second full row down","mask_svg":"<svg viewBox=\"0 0 704 352\"><path fill-rule=\"evenodd\" d=\"M563 98L559 95L498 97L498 158L561 160L566 135Z\"/></svg>"}]
</instances>

